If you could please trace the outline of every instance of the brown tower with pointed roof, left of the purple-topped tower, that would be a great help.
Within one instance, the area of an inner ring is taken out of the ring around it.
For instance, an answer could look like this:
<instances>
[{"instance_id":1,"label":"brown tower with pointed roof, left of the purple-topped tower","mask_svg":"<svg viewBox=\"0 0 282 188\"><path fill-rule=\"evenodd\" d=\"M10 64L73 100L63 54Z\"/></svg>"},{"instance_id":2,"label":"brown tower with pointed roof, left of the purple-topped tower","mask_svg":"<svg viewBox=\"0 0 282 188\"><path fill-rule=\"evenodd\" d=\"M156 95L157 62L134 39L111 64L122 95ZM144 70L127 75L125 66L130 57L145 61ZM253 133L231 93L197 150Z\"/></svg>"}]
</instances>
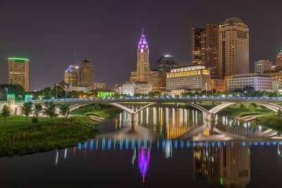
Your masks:
<instances>
[{"instance_id":1,"label":"brown tower with pointed roof, left of the purple-topped tower","mask_svg":"<svg viewBox=\"0 0 282 188\"><path fill-rule=\"evenodd\" d=\"M94 71L92 64L85 58L78 66L78 85L94 89Z\"/></svg>"}]
</instances>

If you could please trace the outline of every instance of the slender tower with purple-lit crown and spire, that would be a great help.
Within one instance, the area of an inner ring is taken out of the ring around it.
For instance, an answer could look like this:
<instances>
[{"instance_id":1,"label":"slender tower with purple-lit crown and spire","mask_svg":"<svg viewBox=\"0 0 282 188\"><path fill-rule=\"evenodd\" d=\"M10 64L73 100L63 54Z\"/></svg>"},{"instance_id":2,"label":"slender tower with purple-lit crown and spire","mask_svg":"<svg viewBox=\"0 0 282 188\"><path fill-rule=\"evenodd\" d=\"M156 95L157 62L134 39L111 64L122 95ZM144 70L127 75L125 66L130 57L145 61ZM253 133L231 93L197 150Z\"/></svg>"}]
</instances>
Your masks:
<instances>
[{"instance_id":1,"label":"slender tower with purple-lit crown and spire","mask_svg":"<svg viewBox=\"0 0 282 188\"><path fill-rule=\"evenodd\" d=\"M142 29L137 49L137 77L136 82L149 83L149 47Z\"/></svg>"}]
</instances>

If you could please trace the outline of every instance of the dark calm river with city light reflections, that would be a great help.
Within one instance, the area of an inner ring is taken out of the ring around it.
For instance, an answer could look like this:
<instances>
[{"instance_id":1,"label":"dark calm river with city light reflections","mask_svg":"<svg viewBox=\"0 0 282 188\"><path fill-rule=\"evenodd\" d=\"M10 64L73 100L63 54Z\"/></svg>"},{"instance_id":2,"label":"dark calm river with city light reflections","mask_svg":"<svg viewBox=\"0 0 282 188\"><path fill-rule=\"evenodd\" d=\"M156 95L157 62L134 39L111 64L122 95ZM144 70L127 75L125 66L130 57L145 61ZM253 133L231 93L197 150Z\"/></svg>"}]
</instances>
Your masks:
<instances>
[{"instance_id":1,"label":"dark calm river with city light reflections","mask_svg":"<svg viewBox=\"0 0 282 188\"><path fill-rule=\"evenodd\" d=\"M282 142L216 120L185 108L147 108L135 123L119 113L78 146L0 158L0 187L281 187Z\"/></svg>"}]
</instances>

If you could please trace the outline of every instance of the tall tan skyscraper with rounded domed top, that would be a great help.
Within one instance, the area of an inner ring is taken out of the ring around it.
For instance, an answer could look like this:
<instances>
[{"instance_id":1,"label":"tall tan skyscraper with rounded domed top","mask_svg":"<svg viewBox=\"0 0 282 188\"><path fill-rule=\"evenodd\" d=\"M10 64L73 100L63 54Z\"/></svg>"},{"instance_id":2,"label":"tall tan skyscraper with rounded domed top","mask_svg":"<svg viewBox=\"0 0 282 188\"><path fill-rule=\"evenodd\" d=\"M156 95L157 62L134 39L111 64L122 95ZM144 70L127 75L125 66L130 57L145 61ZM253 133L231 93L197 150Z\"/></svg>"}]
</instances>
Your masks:
<instances>
[{"instance_id":1,"label":"tall tan skyscraper with rounded domed top","mask_svg":"<svg viewBox=\"0 0 282 188\"><path fill-rule=\"evenodd\" d=\"M240 18L219 26L219 77L249 73L249 28Z\"/></svg>"}]
</instances>

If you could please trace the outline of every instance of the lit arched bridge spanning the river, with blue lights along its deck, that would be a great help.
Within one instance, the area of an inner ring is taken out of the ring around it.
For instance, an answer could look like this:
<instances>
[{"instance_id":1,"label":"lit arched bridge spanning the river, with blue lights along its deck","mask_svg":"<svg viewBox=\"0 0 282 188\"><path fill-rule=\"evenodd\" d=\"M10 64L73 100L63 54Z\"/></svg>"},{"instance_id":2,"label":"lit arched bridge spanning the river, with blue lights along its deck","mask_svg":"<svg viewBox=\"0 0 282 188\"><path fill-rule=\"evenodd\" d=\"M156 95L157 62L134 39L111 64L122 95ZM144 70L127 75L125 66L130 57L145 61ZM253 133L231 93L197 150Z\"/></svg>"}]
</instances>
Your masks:
<instances>
[{"instance_id":1,"label":"lit arched bridge spanning the river, with blue lights along its deck","mask_svg":"<svg viewBox=\"0 0 282 188\"><path fill-rule=\"evenodd\" d=\"M162 96L162 97L109 97L109 98L86 98L86 99L44 99L44 100L32 100L33 104L42 104L46 101L53 101L54 104L68 104L71 105L71 111L74 111L77 108L82 106L86 106L89 104L108 104L110 106L115 106L116 108L120 108L123 111L127 111L131 115L131 120L137 120L137 113L142 111L149 106L154 104L165 104L165 103L174 103L174 104L186 104L188 106L192 106L197 108L198 110L204 113L204 117L206 120L214 121L214 117L216 113L219 113L225 108L229 106L233 106L235 104L244 104L244 103L253 103L258 104L259 106L265 106L266 108L271 109L272 111L277 112L278 110L282 111L282 106L278 106L277 103L282 103L282 97L235 97L235 96L179 96L179 97L171 97L171 96ZM207 110L202 106L196 104L199 102L206 101L214 101L221 102L218 106ZM20 115L23 113L22 108L25 101L15 101L15 99L8 99L7 101L0 102L0 108L2 106L7 105L10 108L12 114ZM133 103L143 103L142 106L137 111L133 111L130 108L126 107L126 104L132 105ZM59 113L59 112L58 112Z\"/></svg>"}]
</instances>

